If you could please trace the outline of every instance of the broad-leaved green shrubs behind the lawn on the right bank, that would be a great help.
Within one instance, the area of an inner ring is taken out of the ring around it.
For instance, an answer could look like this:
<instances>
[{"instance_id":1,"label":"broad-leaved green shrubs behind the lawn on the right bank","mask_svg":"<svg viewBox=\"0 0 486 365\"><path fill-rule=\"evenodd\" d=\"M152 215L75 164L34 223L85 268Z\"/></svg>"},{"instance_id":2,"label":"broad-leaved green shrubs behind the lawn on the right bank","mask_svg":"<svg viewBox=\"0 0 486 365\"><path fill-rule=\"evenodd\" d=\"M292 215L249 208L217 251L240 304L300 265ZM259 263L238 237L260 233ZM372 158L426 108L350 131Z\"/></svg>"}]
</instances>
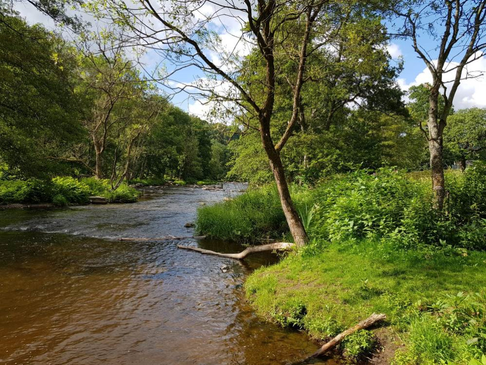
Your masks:
<instances>
[{"instance_id":1,"label":"broad-leaved green shrubs behind the lawn on the right bank","mask_svg":"<svg viewBox=\"0 0 486 365\"><path fill-rule=\"evenodd\" d=\"M446 174L444 213L433 209L430 179L382 168L337 176L316 189L310 233L331 241L382 237L402 247L421 243L484 249L486 170Z\"/></svg>"}]
</instances>

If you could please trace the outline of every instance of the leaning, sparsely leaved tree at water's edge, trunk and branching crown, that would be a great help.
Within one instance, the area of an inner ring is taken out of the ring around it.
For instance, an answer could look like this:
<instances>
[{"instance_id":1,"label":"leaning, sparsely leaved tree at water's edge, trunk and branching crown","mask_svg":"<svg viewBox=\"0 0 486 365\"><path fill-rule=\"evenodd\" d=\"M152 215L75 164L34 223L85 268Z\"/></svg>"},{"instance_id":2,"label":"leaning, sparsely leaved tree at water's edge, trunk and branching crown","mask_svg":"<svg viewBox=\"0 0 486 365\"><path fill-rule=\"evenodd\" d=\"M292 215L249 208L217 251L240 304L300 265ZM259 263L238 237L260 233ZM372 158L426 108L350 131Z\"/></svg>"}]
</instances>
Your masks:
<instances>
[{"instance_id":1,"label":"leaning, sparsely leaved tree at water's edge, trunk and branching crown","mask_svg":"<svg viewBox=\"0 0 486 365\"><path fill-rule=\"evenodd\" d=\"M295 244L302 246L307 242L307 234L290 196L280 152L291 137L297 122L307 59L309 55L326 44L326 42L321 42L321 39L316 41L313 39L316 35L326 38L325 33L318 28L323 24L328 26L332 24L332 17L326 15L326 12L332 13L333 9L339 5L327 0L304 0L294 3L284 0L259 0L255 5L250 0L244 0L241 6L232 1L222 1L220 5L215 5L217 10L212 16L202 20L194 19L194 12L205 4L212 6L216 3L200 0L173 0L158 4L146 0L141 2L143 11L139 12L127 8L122 1L111 0L108 1L107 8L115 11L114 20L117 23L128 26L131 32L139 36L138 45L149 45L152 49L156 48L158 52L163 53L166 58L172 57L174 65L177 66L174 71L169 73L170 75L177 70L195 66L205 72L209 79L217 82L224 81L232 89L232 92L218 93L215 88L200 86L199 91L209 93L213 100L232 103L245 111L251 110L254 113L259 122L261 143L277 183L283 212ZM208 48L217 49L214 43L211 45L214 37L212 37L213 34L209 27L205 25L213 19L220 18L219 13L225 13L224 16L236 19L236 21L244 18L245 24L242 24L241 39L254 42L266 68L265 77L260 80L259 95L252 95L245 90L243 82L239 79L239 71L227 68L227 64L234 59L231 55L225 59L223 64L217 65L206 52ZM148 18L157 22L156 32L153 31L154 28L150 21L146 20ZM246 28L247 31L243 28ZM290 28L292 29L288 32ZM271 125L276 100L276 78L279 72L275 55L281 46L280 34L292 35L298 41L296 44L299 47L297 47L297 53L290 57L297 70L294 80L291 81L293 110L287 128L277 142L272 138ZM197 85L191 85L191 87L196 88Z\"/></svg>"}]
</instances>

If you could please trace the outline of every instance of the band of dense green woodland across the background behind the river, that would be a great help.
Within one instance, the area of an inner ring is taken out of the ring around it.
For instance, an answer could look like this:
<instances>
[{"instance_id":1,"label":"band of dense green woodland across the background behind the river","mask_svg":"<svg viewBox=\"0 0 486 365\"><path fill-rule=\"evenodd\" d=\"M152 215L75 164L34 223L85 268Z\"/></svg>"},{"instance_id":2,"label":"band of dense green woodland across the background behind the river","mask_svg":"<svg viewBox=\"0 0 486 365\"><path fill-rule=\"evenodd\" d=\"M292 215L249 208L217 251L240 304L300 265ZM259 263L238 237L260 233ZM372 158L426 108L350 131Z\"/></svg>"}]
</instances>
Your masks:
<instances>
[{"instance_id":1,"label":"band of dense green woodland across the background behind the river","mask_svg":"<svg viewBox=\"0 0 486 365\"><path fill-rule=\"evenodd\" d=\"M290 83L295 58L288 57L298 55L298 33L278 40L275 50L281 65L275 74L274 139L288 132L296 111L292 138L280 154L286 179L314 184L356 168L430 168L428 142L417 128L427 119L430 88L413 87L410 102L403 102L405 92L396 82L403 64L386 51L389 37L372 8L330 11L338 20L323 26L339 32L327 39L329 47L307 57L298 110ZM137 55L127 52L133 41L116 28L66 41L27 24L8 4L1 16L3 180L93 176L108 179L114 190L137 179L273 181L254 111L220 110L219 122L211 123L174 106L142 72ZM257 49L240 70L236 80L261 102L266 65ZM438 100L444 109L444 98ZM483 158L485 110L449 115L444 167L464 169L467 160Z\"/></svg>"}]
</instances>

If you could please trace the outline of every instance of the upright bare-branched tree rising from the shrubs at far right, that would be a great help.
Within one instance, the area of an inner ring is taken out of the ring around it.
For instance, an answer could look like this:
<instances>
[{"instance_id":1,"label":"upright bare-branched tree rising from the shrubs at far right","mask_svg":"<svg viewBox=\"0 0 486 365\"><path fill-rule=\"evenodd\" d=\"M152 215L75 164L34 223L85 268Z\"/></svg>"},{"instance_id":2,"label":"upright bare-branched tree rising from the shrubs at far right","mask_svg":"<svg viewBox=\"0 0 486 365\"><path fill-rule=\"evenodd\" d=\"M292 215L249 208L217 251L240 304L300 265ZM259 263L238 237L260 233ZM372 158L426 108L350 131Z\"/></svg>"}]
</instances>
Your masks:
<instances>
[{"instance_id":1,"label":"upright bare-branched tree rising from the shrubs at far right","mask_svg":"<svg viewBox=\"0 0 486 365\"><path fill-rule=\"evenodd\" d=\"M427 130L421 127L429 143L434 207L442 210L446 196L443 144L444 129L461 80L471 75L466 66L483 56L486 48L486 0L399 1L394 12L403 21L400 36L412 39L417 55L432 74L429 88ZM437 39L429 50L420 35ZM434 55L433 55L434 52ZM463 72L466 69L466 74ZM451 74L451 76L449 76ZM439 95L444 108L439 110Z\"/></svg>"}]
</instances>

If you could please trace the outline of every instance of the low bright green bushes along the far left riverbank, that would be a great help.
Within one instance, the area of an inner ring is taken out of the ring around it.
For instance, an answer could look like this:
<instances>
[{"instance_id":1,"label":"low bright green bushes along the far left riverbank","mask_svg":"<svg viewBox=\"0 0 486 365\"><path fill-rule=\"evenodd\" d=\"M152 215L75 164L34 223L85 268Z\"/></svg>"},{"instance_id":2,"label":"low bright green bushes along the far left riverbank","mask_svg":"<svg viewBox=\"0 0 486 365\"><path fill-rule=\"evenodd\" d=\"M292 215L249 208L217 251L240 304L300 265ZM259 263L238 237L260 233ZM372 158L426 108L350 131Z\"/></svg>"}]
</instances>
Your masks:
<instances>
[{"instance_id":1,"label":"low bright green bushes along the far left riverbank","mask_svg":"<svg viewBox=\"0 0 486 365\"><path fill-rule=\"evenodd\" d=\"M0 204L53 203L56 206L86 204L89 196L102 196L108 202L134 202L139 193L121 184L111 190L109 180L55 177L51 181L37 179L0 180Z\"/></svg>"}]
</instances>

